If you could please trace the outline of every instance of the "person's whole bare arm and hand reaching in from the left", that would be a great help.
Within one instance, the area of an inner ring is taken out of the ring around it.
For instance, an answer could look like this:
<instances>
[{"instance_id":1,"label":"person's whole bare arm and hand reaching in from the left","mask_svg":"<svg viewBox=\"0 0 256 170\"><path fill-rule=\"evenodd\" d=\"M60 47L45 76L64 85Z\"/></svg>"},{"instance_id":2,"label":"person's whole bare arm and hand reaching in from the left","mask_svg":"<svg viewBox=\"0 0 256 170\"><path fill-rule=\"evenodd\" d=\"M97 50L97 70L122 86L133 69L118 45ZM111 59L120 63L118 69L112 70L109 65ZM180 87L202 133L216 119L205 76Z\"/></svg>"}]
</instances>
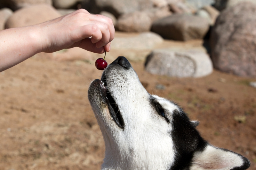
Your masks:
<instances>
[{"instance_id":1,"label":"person's whole bare arm and hand reaching in from the left","mask_svg":"<svg viewBox=\"0 0 256 170\"><path fill-rule=\"evenodd\" d=\"M84 9L34 26L6 29L0 31L0 72L40 52L73 47L109 52L114 34L110 18Z\"/></svg>"}]
</instances>

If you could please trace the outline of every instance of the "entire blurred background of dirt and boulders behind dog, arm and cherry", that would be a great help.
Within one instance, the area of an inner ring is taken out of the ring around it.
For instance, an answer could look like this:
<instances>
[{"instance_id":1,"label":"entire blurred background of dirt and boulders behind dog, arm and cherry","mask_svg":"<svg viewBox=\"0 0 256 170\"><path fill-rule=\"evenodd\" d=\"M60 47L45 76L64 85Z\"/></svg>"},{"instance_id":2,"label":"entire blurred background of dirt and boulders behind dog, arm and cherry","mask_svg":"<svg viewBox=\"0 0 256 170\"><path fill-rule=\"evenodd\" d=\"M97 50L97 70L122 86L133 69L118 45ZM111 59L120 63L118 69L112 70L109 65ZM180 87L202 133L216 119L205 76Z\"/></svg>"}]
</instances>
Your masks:
<instances>
[{"instance_id":1,"label":"entire blurred background of dirt and boulders behind dog, arm and cherry","mask_svg":"<svg viewBox=\"0 0 256 170\"><path fill-rule=\"evenodd\" d=\"M84 8L116 33L150 94L174 100L211 144L256 169L255 0L0 0L0 30ZM87 99L104 54L39 53L0 73L0 169L100 169L104 140Z\"/></svg>"}]
</instances>

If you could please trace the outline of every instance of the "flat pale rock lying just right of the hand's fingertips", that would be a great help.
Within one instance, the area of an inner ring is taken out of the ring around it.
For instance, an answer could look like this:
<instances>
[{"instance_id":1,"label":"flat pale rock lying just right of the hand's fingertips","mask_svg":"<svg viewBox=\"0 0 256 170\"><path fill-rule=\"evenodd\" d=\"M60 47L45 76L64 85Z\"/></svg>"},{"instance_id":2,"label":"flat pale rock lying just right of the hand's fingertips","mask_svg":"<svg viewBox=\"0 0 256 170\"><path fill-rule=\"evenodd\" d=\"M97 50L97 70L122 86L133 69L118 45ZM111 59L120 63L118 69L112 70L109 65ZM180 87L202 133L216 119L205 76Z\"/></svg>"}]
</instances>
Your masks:
<instances>
[{"instance_id":1,"label":"flat pale rock lying just right of the hand's fingertips","mask_svg":"<svg viewBox=\"0 0 256 170\"><path fill-rule=\"evenodd\" d=\"M134 37L114 38L114 40L111 42L111 49L152 49L156 45L161 44L163 41L163 38L156 33L141 33L140 35Z\"/></svg>"}]
</instances>

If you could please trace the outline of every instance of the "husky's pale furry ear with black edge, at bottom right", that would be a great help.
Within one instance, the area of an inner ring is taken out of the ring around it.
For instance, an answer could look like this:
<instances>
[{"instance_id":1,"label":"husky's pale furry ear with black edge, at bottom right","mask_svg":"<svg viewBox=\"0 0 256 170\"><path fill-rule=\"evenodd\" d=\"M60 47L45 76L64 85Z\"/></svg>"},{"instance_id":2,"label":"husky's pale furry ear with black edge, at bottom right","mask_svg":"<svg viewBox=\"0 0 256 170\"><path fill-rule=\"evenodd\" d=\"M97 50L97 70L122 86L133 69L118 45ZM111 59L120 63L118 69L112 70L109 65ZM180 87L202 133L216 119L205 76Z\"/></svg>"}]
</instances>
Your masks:
<instances>
[{"instance_id":1,"label":"husky's pale furry ear with black edge, at bottom right","mask_svg":"<svg viewBox=\"0 0 256 170\"><path fill-rule=\"evenodd\" d=\"M232 151L207 145L204 151L198 151L194 154L190 169L245 170L249 166L250 161L242 155Z\"/></svg>"}]
</instances>

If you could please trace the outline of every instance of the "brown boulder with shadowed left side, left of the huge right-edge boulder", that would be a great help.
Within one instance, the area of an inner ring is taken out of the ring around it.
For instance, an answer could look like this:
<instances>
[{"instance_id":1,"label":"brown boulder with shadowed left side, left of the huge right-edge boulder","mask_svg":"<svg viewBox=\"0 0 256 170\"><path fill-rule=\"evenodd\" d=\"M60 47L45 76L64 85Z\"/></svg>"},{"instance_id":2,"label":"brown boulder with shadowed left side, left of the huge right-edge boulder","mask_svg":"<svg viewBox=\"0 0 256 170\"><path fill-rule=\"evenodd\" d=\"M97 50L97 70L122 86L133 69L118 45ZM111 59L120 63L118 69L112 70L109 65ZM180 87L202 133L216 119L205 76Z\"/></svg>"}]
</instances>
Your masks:
<instances>
[{"instance_id":1,"label":"brown boulder with shadowed left side, left of the huge right-edge boulder","mask_svg":"<svg viewBox=\"0 0 256 170\"><path fill-rule=\"evenodd\" d=\"M203 39L208 30L207 19L187 14L174 14L158 19L151 27L151 31L164 38L177 41Z\"/></svg>"}]
</instances>

